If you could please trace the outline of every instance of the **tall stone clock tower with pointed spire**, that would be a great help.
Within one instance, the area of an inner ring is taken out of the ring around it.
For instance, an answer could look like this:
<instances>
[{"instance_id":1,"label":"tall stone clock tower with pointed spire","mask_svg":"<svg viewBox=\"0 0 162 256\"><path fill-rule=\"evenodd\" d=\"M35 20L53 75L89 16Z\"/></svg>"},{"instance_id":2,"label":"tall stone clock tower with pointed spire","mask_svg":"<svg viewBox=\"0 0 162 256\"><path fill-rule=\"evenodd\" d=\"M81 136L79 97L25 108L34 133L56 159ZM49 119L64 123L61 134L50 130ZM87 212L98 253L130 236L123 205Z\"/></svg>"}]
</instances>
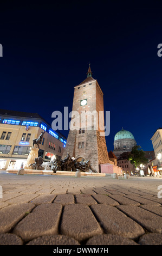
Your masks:
<instances>
[{"instance_id":1,"label":"tall stone clock tower with pointed spire","mask_svg":"<svg viewBox=\"0 0 162 256\"><path fill-rule=\"evenodd\" d=\"M63 157L69 153L75 159L89 159L93 168L100 172L100 164L108 163L109 157L103 136L105 133L100 136L100 131L103 132L99 125L99 112L103 111L103 93L98 81L92 77L90 64L87 78L74 87L72 111L76 111L78 115L75 130L74 124L71 123ZM92 113L91 118L89 113ZM104 125L104 118L102 122Z\"/></svg>"}]
</instances>

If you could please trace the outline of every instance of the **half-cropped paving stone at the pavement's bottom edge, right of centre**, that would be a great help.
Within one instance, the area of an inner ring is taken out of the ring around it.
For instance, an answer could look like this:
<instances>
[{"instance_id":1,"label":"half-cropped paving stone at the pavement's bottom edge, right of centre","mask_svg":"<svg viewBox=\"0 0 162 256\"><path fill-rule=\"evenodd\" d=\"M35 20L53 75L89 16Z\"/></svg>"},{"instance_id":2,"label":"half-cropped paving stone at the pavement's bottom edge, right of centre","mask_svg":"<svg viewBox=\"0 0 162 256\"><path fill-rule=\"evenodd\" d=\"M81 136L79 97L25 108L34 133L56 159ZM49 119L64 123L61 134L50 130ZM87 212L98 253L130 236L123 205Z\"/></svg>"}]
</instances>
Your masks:
<instances>
[{"instance_id":1,"label":"half-cropped paving stone at the pavement's bottom edge, right of centre","mask_svg":"<svg viewBox=\"0 0 162 256\"><path fill-rule=\"evenodd\" d=\"M138 245L138 243L122 236L104 234L91 237L86 245Z\"/></svg>"}]
</instances>

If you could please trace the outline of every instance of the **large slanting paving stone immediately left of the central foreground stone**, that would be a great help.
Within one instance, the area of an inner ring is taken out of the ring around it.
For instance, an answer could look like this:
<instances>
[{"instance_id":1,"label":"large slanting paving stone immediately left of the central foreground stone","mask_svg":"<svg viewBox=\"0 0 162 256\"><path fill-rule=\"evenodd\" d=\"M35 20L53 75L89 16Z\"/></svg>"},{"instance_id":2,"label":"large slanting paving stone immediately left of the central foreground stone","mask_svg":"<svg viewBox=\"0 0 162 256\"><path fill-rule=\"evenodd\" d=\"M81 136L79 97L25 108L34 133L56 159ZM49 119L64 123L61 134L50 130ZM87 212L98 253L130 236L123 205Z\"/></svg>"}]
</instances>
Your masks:
<instances>
[{"instance_id":1,"label":"large slanting paving stone immediately left of the central foreground stone","mask_svg":"<svg viewBox=\"0 0 162 256\"><path fill-rule=\"evenodd\" d=\"M30 241L42 235L55 235L58 231L62 206L60 204L41 204L13 230L13 233L22 237L24 241Z\"/></svg>"}]
</instances>

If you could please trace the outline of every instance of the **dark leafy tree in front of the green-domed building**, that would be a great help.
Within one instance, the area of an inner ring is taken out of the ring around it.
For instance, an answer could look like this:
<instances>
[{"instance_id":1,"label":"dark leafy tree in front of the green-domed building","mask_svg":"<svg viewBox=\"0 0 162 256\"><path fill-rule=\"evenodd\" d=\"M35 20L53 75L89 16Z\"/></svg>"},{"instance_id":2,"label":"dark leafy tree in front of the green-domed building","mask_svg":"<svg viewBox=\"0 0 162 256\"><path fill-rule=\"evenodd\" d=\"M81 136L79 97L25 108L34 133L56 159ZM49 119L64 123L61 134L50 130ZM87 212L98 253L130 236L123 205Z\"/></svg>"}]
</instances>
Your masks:
<instances>
[{"instance_id":1,"label":"dark leafy tree in front of the green-domed building","mask_svg":"<svg viewBox=\"0 0 162 256\"><path fill-rule=\"evenodd\" d=\"M144 150L141 149L140 146L136 145L132 148L131 154L128 157L128 160L136 167L140 166L140 164L148 163L148 159L145 157Z\"/></svg>"}]
</instances>

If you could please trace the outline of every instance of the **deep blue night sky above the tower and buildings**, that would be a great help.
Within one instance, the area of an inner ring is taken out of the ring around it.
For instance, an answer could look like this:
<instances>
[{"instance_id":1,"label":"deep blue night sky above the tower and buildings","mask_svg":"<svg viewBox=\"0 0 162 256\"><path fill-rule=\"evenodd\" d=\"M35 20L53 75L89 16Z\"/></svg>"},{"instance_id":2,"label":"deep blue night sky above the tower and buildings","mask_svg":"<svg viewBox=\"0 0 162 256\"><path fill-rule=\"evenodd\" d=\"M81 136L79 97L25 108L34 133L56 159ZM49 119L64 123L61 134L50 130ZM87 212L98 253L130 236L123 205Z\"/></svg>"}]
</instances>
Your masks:
<instances>
[{"instance_id":1,"label":"deep blue night sky above the tower and buildings","mask_svg":"<svg viewBox=\"0 0 162 256\"><path fill-rule=\"evenodd\" d=\"M54 111L72 111L74 86L90 62L111 112L108 151L122 127L153 150L150 139L162 127L160 1L12 2L0 8L0 108L38 113L51 124Z\"/></svg>"}]
</instances>

